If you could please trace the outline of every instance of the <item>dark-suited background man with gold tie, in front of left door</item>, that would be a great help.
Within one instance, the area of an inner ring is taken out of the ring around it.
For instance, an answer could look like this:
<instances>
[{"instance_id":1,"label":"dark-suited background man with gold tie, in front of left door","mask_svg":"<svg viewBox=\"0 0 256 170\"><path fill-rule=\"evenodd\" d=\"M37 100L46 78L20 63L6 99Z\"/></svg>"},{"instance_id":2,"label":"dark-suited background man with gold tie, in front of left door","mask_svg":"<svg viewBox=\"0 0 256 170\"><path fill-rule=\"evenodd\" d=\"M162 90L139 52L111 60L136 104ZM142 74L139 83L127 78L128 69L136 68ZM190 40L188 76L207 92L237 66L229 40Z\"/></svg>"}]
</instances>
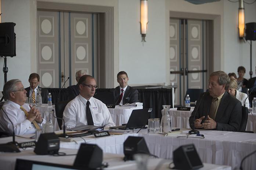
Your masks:
<instances>
[{"instance_id":1,"label":"dark-suited background man with gold tie, in front of left door","mask_svg":"<svg viewBox=\"0 0 256 170\"><path fill-rule=\"evenodd\" d=\"M49 92L46 88L42 88L38 86L38 84L40 83L40 76L37 73L31 73L29 75L28 82L30 84L30 87L25 88L25 90L27 91L27 97L32 98L32 96L35 94L35 99L36 99L37 89L41 88L42 103L47 103L48 102L47 95Z\"/></svg>"}]
</instances>

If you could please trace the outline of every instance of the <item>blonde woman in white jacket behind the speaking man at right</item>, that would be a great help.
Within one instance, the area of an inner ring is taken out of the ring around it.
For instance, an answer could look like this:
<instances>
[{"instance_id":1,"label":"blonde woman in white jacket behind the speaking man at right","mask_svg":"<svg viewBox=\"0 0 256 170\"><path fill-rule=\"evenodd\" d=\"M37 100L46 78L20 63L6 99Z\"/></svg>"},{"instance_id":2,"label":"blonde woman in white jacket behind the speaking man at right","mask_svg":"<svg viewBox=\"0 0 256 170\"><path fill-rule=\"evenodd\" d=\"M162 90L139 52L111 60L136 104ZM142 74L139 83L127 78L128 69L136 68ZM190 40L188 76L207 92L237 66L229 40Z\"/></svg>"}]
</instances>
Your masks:
<instances>
[{"instance_id":1,"label":"blonde woman in white jacket behind the speaking man at right","mask_svg":"<svg viewBox=\"0 0 256 170\"><path fill-rule=\"evenodd\" d=\"M232 95L233 97L237 98L242 103L242 106L244 106L244 104L245 104L245 107L248 107L248 108L250 107L247 94L237 90L237 80L236 79L232 79L232 78L230 79L230 83L229 83L227 92L230 95Z\"/></svg>"}]
</instances>

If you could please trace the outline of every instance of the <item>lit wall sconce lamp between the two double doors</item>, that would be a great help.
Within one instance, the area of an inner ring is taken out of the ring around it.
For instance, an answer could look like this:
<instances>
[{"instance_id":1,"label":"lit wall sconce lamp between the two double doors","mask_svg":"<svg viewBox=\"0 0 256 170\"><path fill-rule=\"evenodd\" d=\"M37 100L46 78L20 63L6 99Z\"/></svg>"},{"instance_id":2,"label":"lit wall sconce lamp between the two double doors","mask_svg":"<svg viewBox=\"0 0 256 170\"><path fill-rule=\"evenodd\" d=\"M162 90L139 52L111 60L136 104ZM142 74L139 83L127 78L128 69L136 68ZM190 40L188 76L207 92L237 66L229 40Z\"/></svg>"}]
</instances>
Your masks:
<instances>
[{"instance_id":1,"label":"lit wall sconce lamp between the two double doors","mask_svg":"<svg viewBox=\"0 0 256 170\"><path fill-rule=\"evenodd\" d=\"M141 27L141 42L146 42L145 37L148 27L148 0L140 0L140 27Z\"/></svg>"}]
</instances>

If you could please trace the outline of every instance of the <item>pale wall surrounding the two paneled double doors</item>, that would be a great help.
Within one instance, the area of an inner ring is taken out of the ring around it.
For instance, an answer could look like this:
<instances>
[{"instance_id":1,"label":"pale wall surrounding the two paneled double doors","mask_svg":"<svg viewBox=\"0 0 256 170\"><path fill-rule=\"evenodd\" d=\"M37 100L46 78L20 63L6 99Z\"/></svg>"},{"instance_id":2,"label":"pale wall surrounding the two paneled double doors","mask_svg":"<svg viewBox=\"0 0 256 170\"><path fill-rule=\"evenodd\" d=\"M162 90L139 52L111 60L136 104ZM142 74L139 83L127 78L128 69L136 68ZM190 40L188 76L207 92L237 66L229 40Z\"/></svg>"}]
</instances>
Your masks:
<instances>
[{"instance_id":1,"label":"pale wall surrounding the two paneled double doors","mask_svg":"<svg viewBox=\"0 0 256 170\"><path fill-rule=\"evenodd\" d=\"M49 0L48 0L49 1ZM114 7L114 75L127 71L129 84L169 82L169 11L194 12L221 16L221 63L226 72L236 72L239 65L249 66L249 44L237 38L238 4L221 0L194 5L183 0L149 0L148 34L144 44L140 35L139 0L51 0L64 3L94 4ZM28 76L36 72L36 0L1 0L2 22L15 22L17 56L8 57L8 80L18 78L29 86ZM234 14L233 14L234 13ZM256 3L245 4L246 22L256 22ZM225 22L224 22L225 20ZM253 42L253 76L256 65ZM0 58L3 66L3 58ZM246 77L249 77L248 69ZM0 90L4 74L0 71ZM116 82L116 81L115 81ZM115 84L117 85L117 83Z\"/></svg>"}]
</instances>

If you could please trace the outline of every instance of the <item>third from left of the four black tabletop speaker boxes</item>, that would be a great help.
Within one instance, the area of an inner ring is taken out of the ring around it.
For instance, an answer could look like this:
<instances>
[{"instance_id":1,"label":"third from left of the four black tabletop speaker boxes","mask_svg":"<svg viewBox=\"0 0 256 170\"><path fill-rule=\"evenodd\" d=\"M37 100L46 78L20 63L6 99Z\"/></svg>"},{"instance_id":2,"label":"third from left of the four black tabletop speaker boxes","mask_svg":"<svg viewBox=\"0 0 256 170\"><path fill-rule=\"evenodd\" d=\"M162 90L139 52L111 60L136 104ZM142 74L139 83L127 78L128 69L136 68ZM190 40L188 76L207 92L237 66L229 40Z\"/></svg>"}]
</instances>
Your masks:
<instances>
[{"instance_id":1,"label":"third from left of the four black tabletop speaker boxes","mask_svg":"<svg viewBox=\"0 0 256 170\"><path fill-rule=\"evenodd\" d=\"M133 160L134 154L148 154L148 146L144 137L129 136L123 143L123 153L125 154L124 160Z\"/></svg>"}]
</instances>

